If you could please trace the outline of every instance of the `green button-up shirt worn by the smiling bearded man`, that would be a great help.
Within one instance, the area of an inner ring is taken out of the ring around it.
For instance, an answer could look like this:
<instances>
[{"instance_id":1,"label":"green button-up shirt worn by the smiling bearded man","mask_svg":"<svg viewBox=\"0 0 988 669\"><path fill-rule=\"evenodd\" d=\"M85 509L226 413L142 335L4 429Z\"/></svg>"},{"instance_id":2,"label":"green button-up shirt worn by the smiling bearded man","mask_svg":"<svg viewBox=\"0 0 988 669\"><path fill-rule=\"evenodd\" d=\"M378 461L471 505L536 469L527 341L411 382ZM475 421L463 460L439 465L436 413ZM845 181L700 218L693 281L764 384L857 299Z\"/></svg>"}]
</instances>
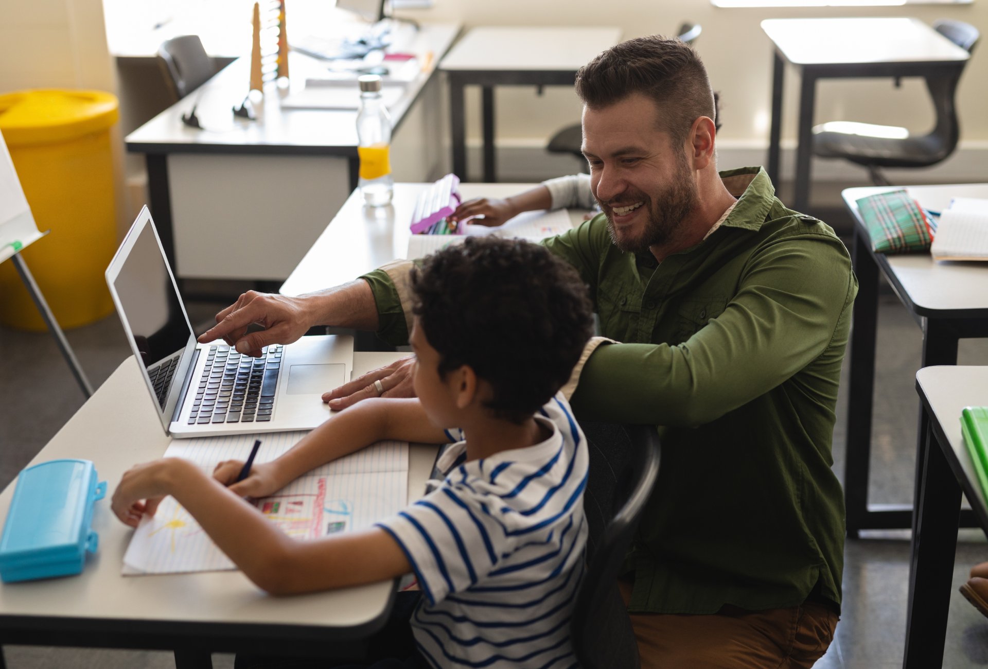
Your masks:
<instances>
[{"instance_id":1,"label":"green button-up shirt worn by the smiling bearded man","mask_svg":"<svg viewBox=\"0 0 988 669\"><path fill-rule=\"evenodd\" d=\"M662 464L625 566L632 612L841 602L844 498L831 470L858 284L824 223L785 209L764 170L721 173L736 206L661 264L598 215L546 240L590 287L602 334L572 396L585 420L655 423ZM390 341L399 290L371 284Z\"/></svg>"}]
</instances>

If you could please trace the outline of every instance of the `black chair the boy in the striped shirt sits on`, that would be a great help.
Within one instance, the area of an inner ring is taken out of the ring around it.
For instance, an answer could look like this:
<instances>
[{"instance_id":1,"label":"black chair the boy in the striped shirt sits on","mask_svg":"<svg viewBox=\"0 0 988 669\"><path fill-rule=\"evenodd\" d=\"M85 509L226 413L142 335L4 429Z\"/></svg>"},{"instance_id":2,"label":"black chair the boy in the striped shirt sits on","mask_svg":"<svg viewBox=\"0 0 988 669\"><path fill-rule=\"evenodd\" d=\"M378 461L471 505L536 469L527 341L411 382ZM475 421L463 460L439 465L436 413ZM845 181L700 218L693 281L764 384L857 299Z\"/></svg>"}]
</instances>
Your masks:
<instances>
[{"instance_id":1,"label":"black chair the boy in the striped shirt sits on","mask_svg":"<svg viewBox=\"0 0 988 669\"><path fill-rule=\"evenodd\" d=\"M587 572L570 630L584 669L637 669L638 645L617 590L617 574L659 474L652 425L581 423L590 452L583 496Z\"/></svg>"}]
</instances>

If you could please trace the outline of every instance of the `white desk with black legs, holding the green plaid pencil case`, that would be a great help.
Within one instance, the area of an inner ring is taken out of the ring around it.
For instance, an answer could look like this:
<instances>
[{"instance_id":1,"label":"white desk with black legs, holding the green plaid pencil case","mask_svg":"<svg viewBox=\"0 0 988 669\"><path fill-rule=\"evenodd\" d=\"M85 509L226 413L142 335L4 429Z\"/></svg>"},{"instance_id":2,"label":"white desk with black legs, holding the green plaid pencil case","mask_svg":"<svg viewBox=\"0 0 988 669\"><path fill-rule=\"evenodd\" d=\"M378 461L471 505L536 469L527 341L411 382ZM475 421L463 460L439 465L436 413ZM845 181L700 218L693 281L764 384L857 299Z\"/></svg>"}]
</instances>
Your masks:
<instances>
[{"instance_id":1,"label":"white desk with black legs, holding the green plaid pencil case","mask_svg":"<svg viewBox=\"0 0 988 669\"><path fill-rule=\"evenodd\" d=\"M849 353L848 448L844 477L848 534L852 537L860 530L909 528L913 522L910 506L888 505L880 510L870 510L867 504L879 272L923 329L921 367L954 365L958 339L988 337L988 265L938 263L928 253L886 255L871 250L858 200L898 188L901 187L850 188L842 193L844 203L855 219L853 255L859 283ZM921 206L938 211L946 209L952 198L988 198L988 184L914 186L906 190ZM921 417L920 455L925 448L922 441L924 422L925 418ZM917 467L918 470L922 467L922 460L917 461ZM965 525L971 525L974 519L964 512L963 521Z\"/></svg>"}]
</instances>

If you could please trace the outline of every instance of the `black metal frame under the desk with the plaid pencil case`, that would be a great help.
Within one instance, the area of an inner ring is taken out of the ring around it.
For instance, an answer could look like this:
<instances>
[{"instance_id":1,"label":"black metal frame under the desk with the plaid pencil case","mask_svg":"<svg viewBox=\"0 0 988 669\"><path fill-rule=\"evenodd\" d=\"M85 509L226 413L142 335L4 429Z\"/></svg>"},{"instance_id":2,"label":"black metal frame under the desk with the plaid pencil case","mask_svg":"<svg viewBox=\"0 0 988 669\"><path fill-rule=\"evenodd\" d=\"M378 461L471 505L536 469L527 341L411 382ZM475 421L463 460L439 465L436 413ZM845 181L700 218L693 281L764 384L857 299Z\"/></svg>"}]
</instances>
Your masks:
<instances>
[{"instance_id":1,"label":"black metal frame under the desk with the plaid pencil case","mask_svg":"<svg viewBox=\"0 0 988 669\"><path fill-rule=\"evenodd\" d=\"M850 210L850 209L849 209ZM864 225L855 218L853 263L858 277L858 297L855 299L853 328L850 342L850 374L848 382L847 453L844 469L844 499L847 510L849 537L858 537L862 530L908 529L913 527L913 507L881 505L868 508L868 471L871 455L871 411L874 396L874 353L878 315L878 272L885 276L899 300L909 310L923 330L923 359L921 368L933 365L956 365L957 343L960 339L988 337L988 309L936 309L915 304L899 282L881 253L871 250ZM914 499L920 499L919 481L926 461L925 435L929 419L920 411L917 443L917 476ZM960 514L963 527L976 527L973 512ZM954 531L956 528L954 528Z\"/></svg>"}]
</instances>

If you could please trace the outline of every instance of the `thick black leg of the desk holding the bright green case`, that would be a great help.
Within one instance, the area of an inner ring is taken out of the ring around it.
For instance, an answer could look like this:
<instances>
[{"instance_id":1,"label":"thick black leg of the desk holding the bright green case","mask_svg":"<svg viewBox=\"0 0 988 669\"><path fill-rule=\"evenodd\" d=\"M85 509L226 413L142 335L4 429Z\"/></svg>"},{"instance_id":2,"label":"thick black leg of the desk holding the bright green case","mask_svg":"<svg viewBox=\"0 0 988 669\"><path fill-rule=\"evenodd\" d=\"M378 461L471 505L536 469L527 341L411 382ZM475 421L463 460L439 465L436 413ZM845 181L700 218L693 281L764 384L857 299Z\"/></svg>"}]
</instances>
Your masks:
<instances>
[{"instance_id":1,"label":"thick black leg of the desk holding the bright green case","mask_svg":"<svg viewBox=\"0 0 988 669\"><path fill-rule=\"evenodd\" d=\"M929 429L924 441L923 473L922 477L917 475L919 497L909 565L903 669L929 669L944 661L960 515L960 485L950 471L947 457Z\"/></svg>"}]
</instances>

